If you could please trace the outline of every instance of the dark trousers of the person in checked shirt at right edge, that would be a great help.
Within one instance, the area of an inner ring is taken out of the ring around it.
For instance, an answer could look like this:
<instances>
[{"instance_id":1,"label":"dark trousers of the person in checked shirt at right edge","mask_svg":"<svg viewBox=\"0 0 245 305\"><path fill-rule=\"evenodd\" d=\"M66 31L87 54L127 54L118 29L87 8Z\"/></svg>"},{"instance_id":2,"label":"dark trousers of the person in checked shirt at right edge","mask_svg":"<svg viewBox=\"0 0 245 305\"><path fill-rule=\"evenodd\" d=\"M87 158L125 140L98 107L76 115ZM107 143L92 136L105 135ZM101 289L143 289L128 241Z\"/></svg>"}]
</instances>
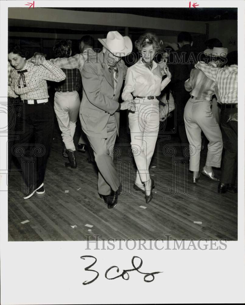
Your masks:
<instances>
[{"instance_id":1,"label":"dark trousers of the person in checked shirt at right edge","mask_svg":"<svg viewBox=\"0 0 245 305\"><path fill-rule=\"evenodd\" d=\"M222 109L220 127L223 138L224 155L221 166L221 183L235 184L237 174L238 123L229 121L230 114L237 113L237 108Z\"/></svg>"}]
</instances>

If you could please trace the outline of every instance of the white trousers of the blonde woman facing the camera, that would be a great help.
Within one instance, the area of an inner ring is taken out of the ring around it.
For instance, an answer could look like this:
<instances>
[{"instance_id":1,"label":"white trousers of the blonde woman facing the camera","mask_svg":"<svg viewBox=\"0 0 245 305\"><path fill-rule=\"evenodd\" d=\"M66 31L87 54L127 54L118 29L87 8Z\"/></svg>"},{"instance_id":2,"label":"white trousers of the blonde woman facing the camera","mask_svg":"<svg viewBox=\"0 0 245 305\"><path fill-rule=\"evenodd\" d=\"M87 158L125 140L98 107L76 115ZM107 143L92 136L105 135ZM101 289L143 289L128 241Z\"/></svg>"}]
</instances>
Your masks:
<instances>
[{"instance_id":1,"label":"white trousers of the blonde woman facing the camera","mask_svg":"<svg viewBox=\"0 0 245 305\"><path fill-rule=\"evenodd\" d=\"M135 99L136 110L128 114L131 149L137 166L135 183L143 185L150 179L149 165L159 131L159 101Z\"/></svg>"}]
</instances>

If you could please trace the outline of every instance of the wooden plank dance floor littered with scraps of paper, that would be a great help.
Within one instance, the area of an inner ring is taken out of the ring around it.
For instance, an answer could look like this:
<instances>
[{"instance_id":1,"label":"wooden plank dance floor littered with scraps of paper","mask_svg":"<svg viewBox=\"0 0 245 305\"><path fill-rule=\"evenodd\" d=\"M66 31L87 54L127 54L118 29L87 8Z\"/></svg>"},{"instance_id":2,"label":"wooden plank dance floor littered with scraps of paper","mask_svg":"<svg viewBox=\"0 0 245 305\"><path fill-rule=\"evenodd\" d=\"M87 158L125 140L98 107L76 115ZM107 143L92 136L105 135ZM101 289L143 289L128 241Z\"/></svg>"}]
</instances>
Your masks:
<instances>
[{"instance_id":1,"label":"wooden plank dance floor littered with scraps of paper","mask_svg":"<svg viewBox=\"0 0 245 305\"><path fill-rule=\"evenodd\" d=\"M78 126L76 147L79 132ZM53 138L43 195L22 199L20 174L10 176L9 241L81 241L86 240L85 235L92 235L90 240L93 235L100 235L99 239L157 239L171 235L170 239L237 240L237 194L218 194L218 182L206 176L193 184L188 165L178 158L180 145L176 135L159 135L150 165L151 178L155 180L154 197L146 204L144 195L133 190L135 163L129 153L126 111L121 111L114 162L122 194L113 209L108 209L98 196L97 169L87 162L87 152L76 152L76 169L65 167L68 159L61 154L57 122ZM176 156L173 147L177 149ZM201 152L200 169L205 165L206 154L207 147ZM14 162L12 169L16 169ZM215 174L220 176L221 171L215 170Z\"/></svg>"}]
</instances>

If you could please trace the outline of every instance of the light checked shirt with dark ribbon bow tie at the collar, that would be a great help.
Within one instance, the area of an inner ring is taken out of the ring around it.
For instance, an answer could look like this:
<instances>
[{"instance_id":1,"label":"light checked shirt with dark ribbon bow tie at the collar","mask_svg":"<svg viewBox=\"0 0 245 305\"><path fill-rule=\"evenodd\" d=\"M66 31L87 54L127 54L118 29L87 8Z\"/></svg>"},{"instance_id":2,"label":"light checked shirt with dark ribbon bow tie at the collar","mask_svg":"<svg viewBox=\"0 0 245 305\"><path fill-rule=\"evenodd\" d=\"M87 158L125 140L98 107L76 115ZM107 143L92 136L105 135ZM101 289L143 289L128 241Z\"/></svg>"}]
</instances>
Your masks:
<instances>
[{"instance_id":1,"label":"light checked shirt with dark ribbon bow tie at the collar","mask_svg":"<svg viewBox=\"0 0 245 305\"><path fill-rule=\"evenodd\" d=\"M48 61L41 66L26 61L23 69L12 72L11 78L12 84L8 86L9 97L20 95L22 100L47 99L49 97L47 81L63 81L65 73Z\"/></svg>"}]
</instances>

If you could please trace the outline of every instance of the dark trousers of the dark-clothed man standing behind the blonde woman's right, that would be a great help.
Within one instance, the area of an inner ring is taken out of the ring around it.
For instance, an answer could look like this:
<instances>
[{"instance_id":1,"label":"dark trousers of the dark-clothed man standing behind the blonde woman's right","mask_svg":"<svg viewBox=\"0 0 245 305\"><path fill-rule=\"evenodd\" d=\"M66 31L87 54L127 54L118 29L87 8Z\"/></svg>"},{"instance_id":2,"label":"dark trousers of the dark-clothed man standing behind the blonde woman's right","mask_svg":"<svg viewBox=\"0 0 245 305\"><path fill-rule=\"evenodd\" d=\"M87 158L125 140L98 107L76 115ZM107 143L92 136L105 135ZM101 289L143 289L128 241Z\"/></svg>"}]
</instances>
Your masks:
<instances>
[{"instance_id":1,"label":"dark trousers of the dark-clothed man standing behind the blonde woman's right","mask_svg":"<svg viewBox=\"0 0 245 305\"><path fill-rule=\"evenodd\" d=\"M190 93L184 88L184 83L180 82L177 87L174 88L174 103L176 113L176 127L180 137L182 154L185 148L189 147L189 141L187 139L184 123L184 109L185 105L190 98Z\"/></svg>"}]
</instances>

